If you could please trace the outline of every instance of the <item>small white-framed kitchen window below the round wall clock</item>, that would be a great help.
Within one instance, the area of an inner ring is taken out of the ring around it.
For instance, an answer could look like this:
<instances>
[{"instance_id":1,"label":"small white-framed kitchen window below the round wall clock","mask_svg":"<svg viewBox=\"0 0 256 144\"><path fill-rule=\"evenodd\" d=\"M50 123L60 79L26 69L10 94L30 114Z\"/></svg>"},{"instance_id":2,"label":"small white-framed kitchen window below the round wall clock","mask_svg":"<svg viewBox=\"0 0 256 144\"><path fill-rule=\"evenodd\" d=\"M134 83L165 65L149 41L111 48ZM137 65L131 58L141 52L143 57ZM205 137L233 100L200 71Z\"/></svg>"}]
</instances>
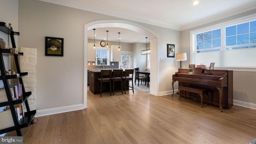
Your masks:
<instances>
[{"instance_id":1,"label":"small white-framed kitchen window below the round wall clock","mask_svg":"<svg viewBox=\"0 0 256 144\"><path fill-rule=\"evenodd\" d=\"M97 48L96 59L96 65L109 65L109 50L106 48Z\"/></svg>"}]
</instances>

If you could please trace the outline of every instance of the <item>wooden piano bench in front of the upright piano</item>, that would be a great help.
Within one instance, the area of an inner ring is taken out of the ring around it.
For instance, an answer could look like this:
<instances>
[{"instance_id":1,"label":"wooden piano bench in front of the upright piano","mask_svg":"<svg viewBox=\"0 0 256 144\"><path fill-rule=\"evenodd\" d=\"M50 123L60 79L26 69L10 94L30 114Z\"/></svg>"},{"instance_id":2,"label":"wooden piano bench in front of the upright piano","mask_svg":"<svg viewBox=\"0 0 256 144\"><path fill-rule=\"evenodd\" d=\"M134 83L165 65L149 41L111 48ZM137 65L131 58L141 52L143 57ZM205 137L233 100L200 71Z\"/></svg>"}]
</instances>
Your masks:
<instances>
[{"instance_id":1,"label":"wooden piano bench in front of the upright piano","mask_svg":"<svg viewBox=\"0 0 256 144\"><path fill-rule=\"evenodd\" d=\"M203 95L206 93L208 94L207 96L207 100L206 100L206 104L208 105L208 98L209 98L209 93L207 89L203 89L200 87L192 87L192 86L179 86L179 95L180 95L180 91L185 91L185 95L184 98L186 99L186 91L192 92L192 93L198 93L200 95L200 99L201 99L201 107L203 107ZM180 100L180 99L179 99Z\"/></svg>"}]
</instances>

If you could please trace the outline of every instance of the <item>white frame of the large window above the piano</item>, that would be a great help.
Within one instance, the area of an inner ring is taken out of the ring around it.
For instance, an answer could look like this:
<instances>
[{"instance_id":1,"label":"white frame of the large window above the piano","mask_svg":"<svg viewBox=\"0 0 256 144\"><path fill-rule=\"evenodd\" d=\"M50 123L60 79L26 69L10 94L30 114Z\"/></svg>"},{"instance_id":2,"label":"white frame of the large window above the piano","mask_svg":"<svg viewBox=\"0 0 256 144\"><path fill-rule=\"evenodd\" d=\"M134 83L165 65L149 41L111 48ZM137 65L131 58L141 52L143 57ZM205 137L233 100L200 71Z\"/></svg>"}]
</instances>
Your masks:
<instances>
[{"instance_id":1,"label":"white frame of the large window above the piano","mask_svg":"<svg viewBox=\"0 0 256 144\"><path fill-rule=\"evenodd\" d=\"M200 34L202 32L207 32L207 31L212 31L212 30L217 30L217 29L221 29L221 47L218 47L218 48L209 48L210 49L220 49L220 51L226 51L226 48L227 47L230 47L230 46L224 46L226 45L225 44L225 39L226 39L226 35L224 34L224 30L226 27L229 27L229 26L234 26L234 25L238 25L238 24L242 24L242 23L246 23L246 22L250 22L250 21L255 21L256 20L256 14L252 14L252 15L249 15L249 16L244 16L242 18L237 18L237 19L234 19L234 20L230 20L230 21L227 21L227 22L222 22L220 24L215 24L215 25L212 25L212 26L208 26L208 27L205 27L205 28L200 28L200 29L197 29L197 30L192 30L190 31L190 63L191 64L196 64L196 65L199 65L198 63L195 63L194 59L195 59L195 55L196 55L196 34ZM225 36L223 38L223 36ZM251 43L249 43L250 45ZM255 45L255 43L253 43L252 45ZM231 47L234 47L235 45L232 45ZM242 45L239 45L239 46L242 46ZM250 49L250 48L246 48L246 49ZM254 48L252 48L254 49ZM230 51L230 50L227 50L227 51ZM214 51L212 51L214 52ZM208 53L209 57L211 55L212 52L204 52L204 53ZM212 60L211 62L214 62L214 60ZM202 63L204 63L204 61L202 61ZM215 63L216 64L216 63ZM210 65L210 62L206 62L204 63L204 65L207 65L207 67ZM254 67L242 67L242 66L231 66L231 67L228 67L228 66L219 66L217 65L214 66L214 69L233 69L235 71L256 71L256 65Z\"/></svg>"}]
</instances>

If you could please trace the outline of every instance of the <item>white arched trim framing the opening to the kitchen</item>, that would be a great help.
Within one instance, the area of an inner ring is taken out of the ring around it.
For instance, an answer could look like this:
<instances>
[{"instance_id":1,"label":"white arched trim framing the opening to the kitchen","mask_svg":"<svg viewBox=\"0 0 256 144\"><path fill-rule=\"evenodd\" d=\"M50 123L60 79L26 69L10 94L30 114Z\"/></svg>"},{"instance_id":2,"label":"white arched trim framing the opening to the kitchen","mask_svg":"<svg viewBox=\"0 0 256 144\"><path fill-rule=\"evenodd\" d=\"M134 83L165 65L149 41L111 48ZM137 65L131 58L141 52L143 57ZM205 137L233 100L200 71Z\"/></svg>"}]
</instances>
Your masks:
<instances>
[{"instance_id":1,"label":"white arched trim framing the opening to the kitchen","mask_svg":"<svg viewBox=\"0 0 256 144\"><path fill-rule=\"evenodd\" d=\"M123 20L99 20L90 22L84 25L84 62L87 63L87 52L88 52L88 30L93 28L104 28L104 27L112 27L112 28L126 28L140 34L147 36L150 39L150 59L152 62L150 63L150 94L158 96L159 92L159 82L158 82L158 36L145 28L144 26L140 26L138 24L123 21ZM87 85L87 64L84 65L84 86ZM87 88L84 87L84 108L87 108Z\"/></svg>"}]
</instances>

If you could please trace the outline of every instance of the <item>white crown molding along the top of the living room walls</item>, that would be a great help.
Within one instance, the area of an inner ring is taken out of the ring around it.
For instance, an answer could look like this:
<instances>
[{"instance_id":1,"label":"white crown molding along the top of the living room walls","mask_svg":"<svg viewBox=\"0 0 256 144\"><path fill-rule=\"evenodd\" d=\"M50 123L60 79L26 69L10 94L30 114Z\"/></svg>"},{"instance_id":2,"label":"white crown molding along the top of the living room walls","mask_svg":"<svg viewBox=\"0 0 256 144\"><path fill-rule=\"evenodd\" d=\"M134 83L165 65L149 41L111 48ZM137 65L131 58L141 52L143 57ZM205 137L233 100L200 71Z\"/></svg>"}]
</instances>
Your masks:
<instances>
[{"instance_id":1,"label":"white crown molding along the top of the living room walls","mask_svg":"<svg viewBox=\"0 0 256 144\"><path fill-rule=\"evenodd\" d=\"M226 12L222 12L220 14L216 14L214 16L210 16L207 18L202 18L201 20L196 20L194 22L191 22L189 24L185 24L183 26L177 26L177 25L173 25L173 24L168 24L168 23L164 23L164 22L160 22L160 21L156 21L156 20L152 20L149 18L142 18L139 16L134 16L134 15L130 15L130 14L126 14L126 13L122 13L113 9L109 9L109 8L103 8L100 6L95 6L92 4L86 4L85 2L80 2L77 0L73 0L72 2L70 2L70 0L40 0L43 2L49 2L52 4L58 4L61 6L67 6L67 7L71 7L71 8L76 8L76 9L80 9L80 10L86 10L86 11L90 11L90 12L95 12L95 13L99 13L99 14L104 14L104 15L108 15L108 16L114 16L114 17L118 17L118 18L123 18L126 20L132 20L132 21L136 21L136 22L142 22L145 24L150 24L150 25L154 25L154 26L160 26L163 28L170 28L173 30L186 30L189 28L194 28L196 26L200 26L203 24L207 24L210 22L214 22L217 20L221 20L223 18L227 18L230 16L234 16L236 14L240 14L242 12L247 12L249 10L253 10L256 9L256 2L251 2L250 4L246 4L243 6L240 6L238 8L234 8L232 10L228 10Z\"/></svg>"}]
</instances>

